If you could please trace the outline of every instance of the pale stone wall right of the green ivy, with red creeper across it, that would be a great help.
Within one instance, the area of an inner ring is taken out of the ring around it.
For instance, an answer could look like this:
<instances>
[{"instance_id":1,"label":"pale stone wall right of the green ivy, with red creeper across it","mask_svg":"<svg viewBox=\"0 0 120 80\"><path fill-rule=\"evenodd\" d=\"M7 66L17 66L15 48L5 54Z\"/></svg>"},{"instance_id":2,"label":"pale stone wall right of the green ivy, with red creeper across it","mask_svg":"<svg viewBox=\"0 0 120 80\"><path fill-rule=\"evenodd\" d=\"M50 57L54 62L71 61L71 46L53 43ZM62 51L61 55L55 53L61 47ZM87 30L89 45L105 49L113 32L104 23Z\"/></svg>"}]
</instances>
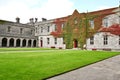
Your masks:
<instances>
[{"instance_id":1,"label":"pale stone wall right of the green ivy, with red creeper across it","mask_svg":"<svg viewBox=\"0 0 120 80\"><path fill-rule=\"evenodd\" d=\"M120 50L120 12L114 10L102 20L102 27L87 39L89 50Z\"/></svg>"}]
</instances>

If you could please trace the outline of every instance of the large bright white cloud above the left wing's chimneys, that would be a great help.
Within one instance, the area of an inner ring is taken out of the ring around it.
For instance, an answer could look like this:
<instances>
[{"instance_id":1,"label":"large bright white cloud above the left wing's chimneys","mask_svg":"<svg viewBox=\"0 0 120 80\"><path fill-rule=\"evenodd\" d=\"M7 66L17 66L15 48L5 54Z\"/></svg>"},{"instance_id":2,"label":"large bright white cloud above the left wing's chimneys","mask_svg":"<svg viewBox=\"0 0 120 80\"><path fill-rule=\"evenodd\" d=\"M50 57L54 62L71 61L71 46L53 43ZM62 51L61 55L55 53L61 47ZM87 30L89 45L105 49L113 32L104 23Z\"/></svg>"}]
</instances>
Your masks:
<instances>
[{"instance_id":1,"label":"large bright white cloud above the left wing's chimneys","mask_svg":"<svg viewBox=\"0 0 120 80\"><path fill-rule=\"evenodd\" d=\"M8 0L2 3L5 6L0 5L0 18L15 21L16 17L20 17L22 23L27 23L32 17L53 19L73 11L73 3L69 0Z\"/></svg>"}]
</instances>

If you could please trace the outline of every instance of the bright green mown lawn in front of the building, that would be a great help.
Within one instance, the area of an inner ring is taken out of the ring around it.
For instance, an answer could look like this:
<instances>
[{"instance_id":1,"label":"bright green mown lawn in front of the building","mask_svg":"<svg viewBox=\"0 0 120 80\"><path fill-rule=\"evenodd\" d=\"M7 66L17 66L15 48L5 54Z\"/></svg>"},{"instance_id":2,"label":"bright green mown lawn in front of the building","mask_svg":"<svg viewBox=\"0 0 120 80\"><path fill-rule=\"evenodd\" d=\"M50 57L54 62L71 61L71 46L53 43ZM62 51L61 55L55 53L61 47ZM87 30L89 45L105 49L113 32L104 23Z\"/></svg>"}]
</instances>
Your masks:
<instances>
[{"instance_id":1,"label":"bright green mown lawn in front of the building","mask_svg":"<svg viewBox=\"0 0 120 80\"><path fill-rule=\"evenodd\" d=\"M0 80L42 80L118 55L118 52L39 48L10 51L0 51Z\"/></svg>"}]
</instances>

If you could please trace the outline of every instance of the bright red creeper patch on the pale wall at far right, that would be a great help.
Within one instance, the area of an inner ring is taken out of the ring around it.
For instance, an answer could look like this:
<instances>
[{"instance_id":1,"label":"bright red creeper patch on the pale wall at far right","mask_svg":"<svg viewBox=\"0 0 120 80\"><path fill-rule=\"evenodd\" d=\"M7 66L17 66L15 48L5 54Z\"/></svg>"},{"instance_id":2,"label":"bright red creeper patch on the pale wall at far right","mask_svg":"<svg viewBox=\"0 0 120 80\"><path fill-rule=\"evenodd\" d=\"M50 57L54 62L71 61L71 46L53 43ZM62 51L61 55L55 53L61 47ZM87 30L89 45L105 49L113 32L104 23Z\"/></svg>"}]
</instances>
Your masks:
<instances>
[{"instance_id":1,"label":"bright red creeper patch on the pale wall at far right","mask_svg":"<svg viewBox=\"0 0 120 80\"><path fill-rule=\"evenodd\" d=\"M108 28L102 27L98 31L99 32L110 32L111 34L114 34L114 35L120 35L120 24L113 24L112 26Z\"/></svg>"}]
</instances>

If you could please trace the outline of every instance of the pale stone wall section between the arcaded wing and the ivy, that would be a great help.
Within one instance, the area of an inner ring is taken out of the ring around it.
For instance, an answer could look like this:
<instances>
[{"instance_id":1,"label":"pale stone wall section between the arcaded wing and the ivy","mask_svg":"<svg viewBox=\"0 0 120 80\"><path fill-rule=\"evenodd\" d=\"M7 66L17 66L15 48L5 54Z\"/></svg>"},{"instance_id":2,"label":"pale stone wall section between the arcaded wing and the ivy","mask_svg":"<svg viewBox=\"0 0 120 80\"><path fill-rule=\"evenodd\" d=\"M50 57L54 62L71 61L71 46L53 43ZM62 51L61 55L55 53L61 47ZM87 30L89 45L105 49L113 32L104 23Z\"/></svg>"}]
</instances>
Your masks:
<instances>
[{"instance_id":1,"label":"pale stone wall section between the arcaded wing and the ivy","mask_svg":"<svg viewBox=\"0 0 120 80\"><path fill-rule=\"evenodd\" d=\"M38 36L38 46L43 48L65 48L63 38L55 37L52 32L57 30L56 23L53 20L42 19L35 23L35 35Z\"/></svg>"}]
</instances>

